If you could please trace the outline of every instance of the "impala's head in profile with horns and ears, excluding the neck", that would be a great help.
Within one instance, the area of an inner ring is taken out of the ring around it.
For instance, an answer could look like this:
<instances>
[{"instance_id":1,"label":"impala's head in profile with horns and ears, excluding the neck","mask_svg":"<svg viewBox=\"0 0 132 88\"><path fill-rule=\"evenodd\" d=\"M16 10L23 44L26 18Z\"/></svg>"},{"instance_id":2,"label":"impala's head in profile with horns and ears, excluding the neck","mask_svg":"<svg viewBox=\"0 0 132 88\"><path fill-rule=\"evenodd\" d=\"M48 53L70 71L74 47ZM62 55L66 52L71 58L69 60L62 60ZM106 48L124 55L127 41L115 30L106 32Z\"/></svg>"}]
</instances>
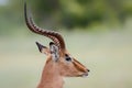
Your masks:
<instances>
[{"instance_id":1,"label":"impala's head in profile with horns and ears, excluding the neck","mask_svg":"<svg viewBox=\"0 0 132 88\"><path fill-rule=\"evenodd\" d=\"M61 76L65 77L88 76L89 69L87 69L82 64L76 61L67 52L64 38L59 33L54 31L42 30L41 28L35 25L31 15L28 15L26 4L24 4L24 15L25 23L32 32L44 35L53 41L50 43L50 47L43 46L42 44L36 42L40 52L48 57L46 64L48 64L48 62L53 62L53 64L56 64L58 68L56 70L59 73Z\"/></svg>"}]
</instances>

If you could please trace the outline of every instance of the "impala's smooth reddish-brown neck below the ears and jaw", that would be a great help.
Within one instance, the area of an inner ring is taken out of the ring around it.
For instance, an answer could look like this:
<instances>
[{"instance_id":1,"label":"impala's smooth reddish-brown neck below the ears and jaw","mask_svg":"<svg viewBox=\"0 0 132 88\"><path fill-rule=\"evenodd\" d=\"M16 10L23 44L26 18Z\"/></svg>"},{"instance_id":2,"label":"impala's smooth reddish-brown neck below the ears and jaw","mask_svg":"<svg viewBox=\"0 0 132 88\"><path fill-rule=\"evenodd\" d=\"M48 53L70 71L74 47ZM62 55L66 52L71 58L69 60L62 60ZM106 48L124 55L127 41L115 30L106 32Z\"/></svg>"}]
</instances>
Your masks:
<instances>
[{"instance_id":1,"label":"impala's smooth reddish-brown neck below the ears and jaw","mask_svg":"<svg viewBox=\"0 0 132 88\"><path fill-rule=\"evenodd\" d=\"M56 63L47 61L37 88L63 88L63 77L57 69Z\"/></svg>"}]
</instances>

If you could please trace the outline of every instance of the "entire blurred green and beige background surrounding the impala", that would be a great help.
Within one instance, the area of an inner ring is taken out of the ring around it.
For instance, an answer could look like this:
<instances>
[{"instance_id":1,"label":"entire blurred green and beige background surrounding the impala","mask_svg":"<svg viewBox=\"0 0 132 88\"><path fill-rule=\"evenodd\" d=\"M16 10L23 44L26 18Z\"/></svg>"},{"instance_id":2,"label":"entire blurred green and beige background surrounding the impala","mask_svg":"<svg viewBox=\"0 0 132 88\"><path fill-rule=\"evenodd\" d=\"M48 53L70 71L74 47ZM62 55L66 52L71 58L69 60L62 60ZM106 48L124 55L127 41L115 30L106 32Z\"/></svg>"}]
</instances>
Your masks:
<instances>
[{"instance_id":1,"label":"entire blurred green and beige background surrounding the impala","mask_svg":"<svg viewBox=\"0 0 132 88\"><path fill-rule=\"evenodd\" d=\"M132 0L0 0L0 88L36 88L51 40L24 23L28 3L36 24L58 31L89 69L64 88L132 88Z\"/></svg>"}]
</instances>

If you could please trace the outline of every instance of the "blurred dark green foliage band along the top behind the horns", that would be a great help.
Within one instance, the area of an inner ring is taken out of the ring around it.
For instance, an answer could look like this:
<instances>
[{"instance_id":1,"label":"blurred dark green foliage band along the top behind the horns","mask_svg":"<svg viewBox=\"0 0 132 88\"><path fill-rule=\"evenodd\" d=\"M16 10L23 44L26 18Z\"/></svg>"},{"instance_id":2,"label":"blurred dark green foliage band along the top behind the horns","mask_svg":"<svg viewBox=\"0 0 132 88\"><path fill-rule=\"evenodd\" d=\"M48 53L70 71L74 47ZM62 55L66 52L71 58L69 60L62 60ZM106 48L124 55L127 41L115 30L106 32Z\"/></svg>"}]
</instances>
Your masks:
<instances>
[{"instance_id":1,"label":"blurred dark green foliage band along the top behind the horns","mask_svg":"<svg viewBox=\"0 0 132 88\"><path fill-rule=\"evenodd\" d=\"M94 24L123 23L132 16L132 0L26 0L38 25L75 29ZM0 6L0 31L6 25L24 23L23 0L10 0ZM15 25L15 26L16 26Z\"/></svg>"}]
</instances>

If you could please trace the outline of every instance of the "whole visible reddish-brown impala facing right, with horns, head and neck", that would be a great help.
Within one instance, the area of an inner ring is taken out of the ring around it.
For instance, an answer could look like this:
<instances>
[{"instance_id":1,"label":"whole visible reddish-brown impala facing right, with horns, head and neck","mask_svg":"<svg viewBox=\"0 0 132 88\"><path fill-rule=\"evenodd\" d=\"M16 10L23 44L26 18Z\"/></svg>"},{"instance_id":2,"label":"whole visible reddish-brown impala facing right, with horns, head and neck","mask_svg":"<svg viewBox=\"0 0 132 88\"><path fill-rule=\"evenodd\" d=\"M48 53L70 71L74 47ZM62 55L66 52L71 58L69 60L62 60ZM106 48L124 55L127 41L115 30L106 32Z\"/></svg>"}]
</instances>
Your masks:
<instances>
[{"instance_id":1,"label":"whole visible reddish-brown impala facing right, with horns, head and neck","mask_svg":"<svg viewBox=\"0 0 132 88\"><path fill-rule=\"evenodd\" d=\"M89 69L67 52L64 38L59 33L42 30L35 25L31 15L28 15L26 4L24 4L24 16L25 23L32 32L44 35L53 41L50 43L50 48L36 42L40 52L47 56L37 88L63 88L63 77L88 76Z\"/></svg>"}]
</instances>

